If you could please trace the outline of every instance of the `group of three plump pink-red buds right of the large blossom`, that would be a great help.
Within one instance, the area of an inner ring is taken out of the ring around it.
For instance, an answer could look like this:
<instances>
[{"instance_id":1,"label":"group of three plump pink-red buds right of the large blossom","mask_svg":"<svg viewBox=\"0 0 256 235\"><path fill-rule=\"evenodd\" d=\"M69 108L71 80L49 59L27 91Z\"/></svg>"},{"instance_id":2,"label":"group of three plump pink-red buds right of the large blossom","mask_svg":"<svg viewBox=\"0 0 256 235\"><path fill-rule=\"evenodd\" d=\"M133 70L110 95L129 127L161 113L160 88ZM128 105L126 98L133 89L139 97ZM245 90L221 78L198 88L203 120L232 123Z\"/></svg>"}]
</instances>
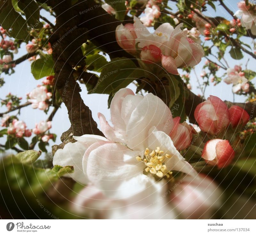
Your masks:
<instances>
[{"instance_id":1,"label":"group of three plump pink-red buds right of the large blossom","mask_svg":"<svg viewBox=\"0 0 256 235\"><path fill-rule=\"evenodd\" d=\"M195 119L200 129L210 138L204 145L202 153L207 163L217 164L219 168L222 168L232 162L235 156L234 148L237 146L230 143L230 140L234 133L246 125L249 118L249 114L241 107L233 105L228 109L220 98L212 95L196 107ZM230 135L228 128L232 129ZM229 140L223 140L224 137Z\"/></svg>"}]
</instances>

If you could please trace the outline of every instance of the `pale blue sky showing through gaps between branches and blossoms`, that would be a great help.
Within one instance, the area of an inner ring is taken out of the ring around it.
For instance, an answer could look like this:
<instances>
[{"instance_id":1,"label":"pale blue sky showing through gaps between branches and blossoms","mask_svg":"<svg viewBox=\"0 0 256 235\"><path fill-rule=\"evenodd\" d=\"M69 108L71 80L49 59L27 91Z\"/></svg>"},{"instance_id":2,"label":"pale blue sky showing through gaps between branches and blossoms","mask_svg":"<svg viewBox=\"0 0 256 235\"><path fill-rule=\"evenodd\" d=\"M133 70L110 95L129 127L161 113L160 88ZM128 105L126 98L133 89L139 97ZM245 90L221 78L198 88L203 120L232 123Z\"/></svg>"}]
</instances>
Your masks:
<instances>
[{"instance_id":1,"label":"pale blue sky showing through gaps between branches and blossoms","mask_svg":"<svg viewBox=\"0 0 256 235\"><path fill-rule=\"evenodd\" d=\"M237 10L237 6L236 6L237 2L239 1L234 1L234 0L225 1L228 7L234 12ZM176 7L173 6L173 4L175 3L169 1L169 4L173 8L173 11L175 11ZM217 8L217 15L226 17L228 20L232 19L231 16L228 14L227 16L223 15L223 11L221 11L221 9L223 8L221 6L216 8ZM204 14L211 17L216 16L216 13L214 12L213 9L209 9L209 11L204 12ZM42 12L42 15L44 15L47 19L51 20L54 23L54 19L52 17L47 16L47 12ZM210 42L207 42L207 43L210 43ZM245 38L244 43L248 43L252 45L250 38ZM25 45L23 44L18 54L15 55L15 58L18 58L27 53L24 46ZM250 56L248 56L247 54L244 54L243 59L236 61L232 59L228 53L226 53L225 58L228 61L228 64L231 68L234 67L235 64L242 64L242 68L245 69L244 65L247 62L248 58L250 58ZM204 62L205 62L205 59L203 59L200 64L196 65L196 72L199 77L200 77L201 69L202 69L202 66L204 65ZM43 80L43 79L41 80L34 79L33 75L30 73L30 64L31 62L25 61L19 64L17 67L15 67L15 73L13 73L11 76L3 75L5 84L2 88L0 88L0 92L1 92L0 98L4 98L5 95L11 92L14 95L23 97L22 103L26 102L26 93L30 92L38 84L41 84ZM256 70L255 60L253 61L252 58L248 63L248 69ZM224 72L225 72L224 70L220 69L219 75L222 75ZM192 85L192 91L195 94L200 93L199 89L196 88L198 84L196 82L196 78L193 72L190 75L190 80ZM109 110L107 108L108 95L100 95L100 94L87 95L87 90L85 88L85 85L81 84L80 86L82 87L81 96L85 104L89 106L89 108L92 110L93 119L96 120L96 122L98 123L97 113L101 112L106 116L107 120L109 120L110 116L109 116ZM130 85L129 87L132 88L133 91L135 92L136 88L134 85ZM221 82L217 86L213 86L211 84L206 89L205 96L208 97L209 95L215 95L220 97L223 100L233 101L233 93L231 89L232 89L232 86L227 85L224 82ZM237 102L244 102L245 97L235 95L235 100ZM1 107L0 112L3 112L3 111L6 111L6 110L4 107ZM13 112L13 115L14 114L15 112ZM50 114L50 111L49 111L49 114ZM38 110L38 109L34 110L31 107L23 108L19 116L20 120L25 121L27 123L28 128L31 128L31 129L35 127L35 123L45 120L47 119L47 117L48 115L46 115L44 111ZM68 120L67 109L65 105L62 104L61 109L58 110L58 112L56 113L53 119L52 129L51 129L52 133L57 134L57 142L56 142L57 144L61 143L60 135L61 133L66 131L69 128L69 126L70 126L70 122ZM6 137L0 138L0 143L4 144L5 140L6 140ZM52 144L53 142L50 142L50 146ZM48 149L50 150L50 147Z\"/></svg>"}]
</instances>

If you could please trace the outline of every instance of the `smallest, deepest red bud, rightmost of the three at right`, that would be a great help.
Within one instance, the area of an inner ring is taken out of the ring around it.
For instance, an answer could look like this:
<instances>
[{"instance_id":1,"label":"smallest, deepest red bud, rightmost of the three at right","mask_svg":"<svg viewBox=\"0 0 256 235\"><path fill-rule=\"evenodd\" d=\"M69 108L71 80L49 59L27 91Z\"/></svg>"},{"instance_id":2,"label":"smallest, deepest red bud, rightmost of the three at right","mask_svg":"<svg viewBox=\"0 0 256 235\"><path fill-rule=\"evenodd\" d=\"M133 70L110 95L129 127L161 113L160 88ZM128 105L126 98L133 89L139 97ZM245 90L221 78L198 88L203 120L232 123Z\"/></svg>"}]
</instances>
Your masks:
<instances>
[{"instance_id":1,"label":"smallest, deepest red bud, rightmost of the three at right","mask_svg":"<svg viewBox=\"0 0 256 235\"><path fill-rule=\"evenodd\" d=\"M230 113L230 123L232 127L242 125L244 126L250 119L249 114L242 109L241 107L237 105L232 105L229 108L229 113Z\"/></svg>"}]
</instances>

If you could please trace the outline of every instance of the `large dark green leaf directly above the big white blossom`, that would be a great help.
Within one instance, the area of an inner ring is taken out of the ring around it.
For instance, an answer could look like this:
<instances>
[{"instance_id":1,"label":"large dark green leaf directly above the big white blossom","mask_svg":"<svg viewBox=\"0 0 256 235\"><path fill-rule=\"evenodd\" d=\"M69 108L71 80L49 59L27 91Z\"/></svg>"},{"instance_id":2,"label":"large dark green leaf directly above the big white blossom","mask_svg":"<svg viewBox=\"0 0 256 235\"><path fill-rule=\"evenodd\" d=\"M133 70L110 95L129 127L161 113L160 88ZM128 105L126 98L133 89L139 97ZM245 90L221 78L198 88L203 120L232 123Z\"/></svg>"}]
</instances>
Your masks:
<instances>
[{"instance_id":1,"label":"large dark green leaf directly above the big white blossom","mask_svg":"<svg viewBox=\"0 0 256 235\"><path fill-rule=\"evenodd\" d=\"M143 76L144 71L137 68L132 60L125 57L115 58L102 69L96 86L88 93L114 94Z\"/></svg>"}]
</instances>

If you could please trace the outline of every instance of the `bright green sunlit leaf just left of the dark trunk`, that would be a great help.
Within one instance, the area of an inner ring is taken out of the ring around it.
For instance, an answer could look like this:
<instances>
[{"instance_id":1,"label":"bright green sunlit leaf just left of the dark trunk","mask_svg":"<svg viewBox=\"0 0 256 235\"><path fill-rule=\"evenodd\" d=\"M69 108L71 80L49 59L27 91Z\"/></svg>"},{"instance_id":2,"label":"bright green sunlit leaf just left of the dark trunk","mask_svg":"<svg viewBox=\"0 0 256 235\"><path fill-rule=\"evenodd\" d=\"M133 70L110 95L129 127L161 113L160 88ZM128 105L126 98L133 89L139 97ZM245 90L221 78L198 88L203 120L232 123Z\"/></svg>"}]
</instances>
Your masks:
<instances>
[{"instance_id":1,"label":"bright green sunlit leaf just left of the dark trunk","mask_svg":"<svg viewBox=\"0 0 256 235\"><path fill-rule=\"evenodd\" d=\"M52 55L40 53L41 58L31 64L31 73L36 80L54 75L54 61Z\"/></svg>"}]
</instances>

